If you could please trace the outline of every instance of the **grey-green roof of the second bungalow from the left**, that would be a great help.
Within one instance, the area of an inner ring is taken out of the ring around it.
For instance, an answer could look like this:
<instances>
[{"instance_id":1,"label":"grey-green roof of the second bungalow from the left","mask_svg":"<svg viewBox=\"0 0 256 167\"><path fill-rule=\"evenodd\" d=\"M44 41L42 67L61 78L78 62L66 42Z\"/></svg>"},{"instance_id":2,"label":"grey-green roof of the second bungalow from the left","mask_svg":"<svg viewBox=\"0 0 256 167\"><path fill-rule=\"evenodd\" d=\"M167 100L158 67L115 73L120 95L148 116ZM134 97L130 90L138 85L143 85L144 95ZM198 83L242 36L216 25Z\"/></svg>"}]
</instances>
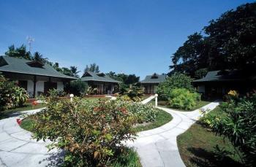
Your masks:
<instances>
[{"instance_id":1,"label":"grey-green roof of the second bungalow from the left","mask_svg":"<svg viewBox=\"0 0 256 167\"><path fill-rule=\"evenodd\" d=\"M105 74L97 74L95 72L87 71L86 77L80 78L82 81L100 81L100 82L113 82L113 83L120 83L120 81L110 78L108 75Z\"/></svg>"}]
</instances>

